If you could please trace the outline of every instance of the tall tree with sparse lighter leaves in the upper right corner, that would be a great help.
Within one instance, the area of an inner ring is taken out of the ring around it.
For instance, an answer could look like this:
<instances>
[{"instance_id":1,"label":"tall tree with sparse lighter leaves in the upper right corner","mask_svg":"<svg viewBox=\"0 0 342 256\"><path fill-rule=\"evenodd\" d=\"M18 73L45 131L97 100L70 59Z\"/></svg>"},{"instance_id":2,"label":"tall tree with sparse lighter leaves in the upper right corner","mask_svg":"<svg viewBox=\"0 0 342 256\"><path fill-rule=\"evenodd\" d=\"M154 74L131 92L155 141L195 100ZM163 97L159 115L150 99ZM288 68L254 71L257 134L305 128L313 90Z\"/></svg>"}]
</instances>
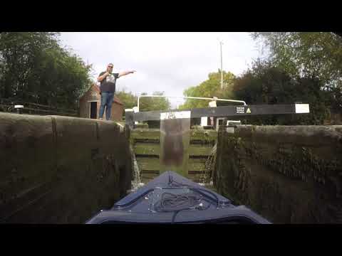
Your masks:
<instances>
[{"instance_id":1,"label":"tall tree with sparse lighter leaves in the upper right corner","mask_svg":"<svg viewBox=\"0 0 342 256\"><path fill-rule=\"evenodd\" d=\"M269 61L292 76L318 79L342 110L342 38L330 32L252 33L269 48Z\"/></svg>"}]
</instances>

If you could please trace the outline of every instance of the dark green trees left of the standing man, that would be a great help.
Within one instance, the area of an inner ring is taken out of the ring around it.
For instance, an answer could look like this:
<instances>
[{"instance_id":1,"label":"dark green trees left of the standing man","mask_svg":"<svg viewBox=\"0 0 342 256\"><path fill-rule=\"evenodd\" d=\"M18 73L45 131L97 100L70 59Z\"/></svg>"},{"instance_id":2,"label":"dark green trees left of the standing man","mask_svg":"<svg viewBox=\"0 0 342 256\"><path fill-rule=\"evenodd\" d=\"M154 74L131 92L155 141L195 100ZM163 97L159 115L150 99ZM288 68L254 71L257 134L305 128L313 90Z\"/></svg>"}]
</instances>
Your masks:
<instances>
[{"instance_id":1,"label":"dark green trees left of the standing man","mask_svg":"<svg viewBox=\"0 0 342 256\"><path fill-rule=\"evenodd\" d=\"M61 48L58 33L0 33L0 97L76 108L91 65Z\"/></svg>"}]
</instances>

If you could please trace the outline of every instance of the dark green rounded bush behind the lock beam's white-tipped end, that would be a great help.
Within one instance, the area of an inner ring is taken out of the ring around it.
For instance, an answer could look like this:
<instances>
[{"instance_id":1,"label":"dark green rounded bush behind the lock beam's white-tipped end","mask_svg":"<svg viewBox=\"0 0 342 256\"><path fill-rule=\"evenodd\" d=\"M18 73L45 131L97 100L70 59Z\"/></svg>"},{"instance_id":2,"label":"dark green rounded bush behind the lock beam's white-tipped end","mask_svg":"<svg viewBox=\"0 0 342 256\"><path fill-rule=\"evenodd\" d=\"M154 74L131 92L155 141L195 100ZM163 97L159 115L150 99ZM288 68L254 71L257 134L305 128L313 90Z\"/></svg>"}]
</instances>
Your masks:
<instances>
[{"instance_id":1,"label":"dark green rounded bush behind the lock beam's white-tipped end","mask_svg":"<svg viewBox=\"0 0 342 256\"><path fill-rule=\"evenodd\" d=\"M323 124L329 114L329 94L318 78L291 77L271 63L254 63L234 83L235 97L249 105L309 103L310 114L248 117L249 124Z\"/></svg>"}]
</instances>

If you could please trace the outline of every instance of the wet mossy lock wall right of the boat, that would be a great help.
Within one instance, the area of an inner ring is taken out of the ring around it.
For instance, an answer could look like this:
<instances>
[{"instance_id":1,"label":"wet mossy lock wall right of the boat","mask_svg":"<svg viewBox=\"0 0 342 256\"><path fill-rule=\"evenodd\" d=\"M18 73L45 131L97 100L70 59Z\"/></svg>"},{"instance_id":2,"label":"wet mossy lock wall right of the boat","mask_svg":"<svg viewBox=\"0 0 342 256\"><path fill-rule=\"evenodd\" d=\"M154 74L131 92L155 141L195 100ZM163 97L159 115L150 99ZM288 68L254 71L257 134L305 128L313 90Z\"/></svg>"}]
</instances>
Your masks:
<instances>
[{"instance_id":1,"label":"wet mossy lock wall right of the boat","mask_svg":"<svg viewBox=\"0 0 342 256\"><path fill-rule=\"evenodd\" d=\"M274 223L342 223L342 126L222 130L214 185Z\"/></svg>"}]
</instances>

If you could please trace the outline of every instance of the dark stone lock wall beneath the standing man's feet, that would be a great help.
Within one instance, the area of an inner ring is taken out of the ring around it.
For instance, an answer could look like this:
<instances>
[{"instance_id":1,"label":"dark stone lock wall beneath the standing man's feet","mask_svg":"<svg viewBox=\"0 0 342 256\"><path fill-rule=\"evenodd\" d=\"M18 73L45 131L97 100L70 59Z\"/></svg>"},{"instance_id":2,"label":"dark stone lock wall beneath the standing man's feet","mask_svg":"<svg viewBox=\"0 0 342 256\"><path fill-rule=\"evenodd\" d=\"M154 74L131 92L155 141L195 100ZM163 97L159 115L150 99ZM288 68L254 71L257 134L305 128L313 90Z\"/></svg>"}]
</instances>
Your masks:
<instances>
[{"instance_id":1,"label":"dark stone lock wall beneath the standing man's feet","mask_svg":"<svg viewBox=\"0 0 342 256\"><path fill-rule=\"evenodd\" d=\"M84 223L131 179L122 125L0 113L0 223Z\"/></svg>"}]
</instances>

